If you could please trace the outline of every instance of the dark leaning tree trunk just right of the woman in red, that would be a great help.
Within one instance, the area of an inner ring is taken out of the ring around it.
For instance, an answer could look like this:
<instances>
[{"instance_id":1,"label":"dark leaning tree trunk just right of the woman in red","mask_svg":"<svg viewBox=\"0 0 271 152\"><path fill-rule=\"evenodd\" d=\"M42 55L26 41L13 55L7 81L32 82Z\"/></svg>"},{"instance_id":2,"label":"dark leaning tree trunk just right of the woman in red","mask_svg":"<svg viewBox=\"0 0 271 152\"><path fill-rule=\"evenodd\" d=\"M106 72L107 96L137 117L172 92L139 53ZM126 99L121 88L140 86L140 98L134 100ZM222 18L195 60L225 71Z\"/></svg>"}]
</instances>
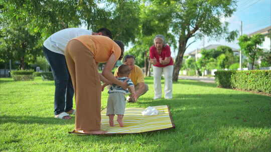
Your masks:
<instances>
[{"instance_id":1,"label":"dark leaning tree trunk just right of the woman in red","mask_svg":"<svg viewBox=\"0 0 271 152\"><path fill-rule=\"evenodd\" d=\"M173 69L173 81L177 82L178 77L179 77L179 72L182 67L182 62L183 62L183 57L184 57L184 52L186 50L186 43L187 43L187 38L181 38L179 40L179 47L178 47L178 53L176 56L176 60L174 63L174 69Z\"/></svg>"}]
</instances>

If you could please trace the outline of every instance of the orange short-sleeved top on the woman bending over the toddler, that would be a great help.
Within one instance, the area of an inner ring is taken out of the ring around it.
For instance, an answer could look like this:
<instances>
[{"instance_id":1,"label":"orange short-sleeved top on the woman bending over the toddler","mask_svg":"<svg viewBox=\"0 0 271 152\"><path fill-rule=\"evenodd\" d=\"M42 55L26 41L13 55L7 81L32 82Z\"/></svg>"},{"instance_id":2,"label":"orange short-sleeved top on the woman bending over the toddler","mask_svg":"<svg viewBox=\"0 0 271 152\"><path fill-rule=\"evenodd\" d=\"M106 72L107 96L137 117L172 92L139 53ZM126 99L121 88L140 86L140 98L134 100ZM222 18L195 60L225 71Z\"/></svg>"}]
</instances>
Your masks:
<instances>
[{"instance_id":1,"label":"orange short-sleeved top on the woman bending over the toddler","mask_svg":"<svg viewBox=\"0 0 271 152\"><path fill-rule=\"evenodd\" d=\"M93 53L96 62L106 62L112 53L117 60L121 53L118 44L106 36L81 35L73 39L81 41Z\"/></svg>"}]
</instances>

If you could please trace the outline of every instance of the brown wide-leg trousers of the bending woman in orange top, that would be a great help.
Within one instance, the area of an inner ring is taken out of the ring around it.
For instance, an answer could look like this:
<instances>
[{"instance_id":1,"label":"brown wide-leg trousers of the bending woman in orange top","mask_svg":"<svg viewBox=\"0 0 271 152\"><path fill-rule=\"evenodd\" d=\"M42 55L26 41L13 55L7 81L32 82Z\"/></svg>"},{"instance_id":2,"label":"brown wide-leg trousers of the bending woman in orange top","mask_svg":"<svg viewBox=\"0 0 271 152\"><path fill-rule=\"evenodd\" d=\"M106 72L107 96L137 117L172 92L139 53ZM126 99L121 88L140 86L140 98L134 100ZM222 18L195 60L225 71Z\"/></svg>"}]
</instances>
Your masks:
<instances>
[{"instance_id":1,"label":"brown wide-leg trousers of the bending woman in orange top","mask_svg":"<svg viewBox=\"0 0 271 152\"><path fill-rule=\"evenodd\" d=\"M99 130L101 82L93 53L73 39L66 46L65 58L75 93L75 130Z\"/></svg>"}]
</instances>

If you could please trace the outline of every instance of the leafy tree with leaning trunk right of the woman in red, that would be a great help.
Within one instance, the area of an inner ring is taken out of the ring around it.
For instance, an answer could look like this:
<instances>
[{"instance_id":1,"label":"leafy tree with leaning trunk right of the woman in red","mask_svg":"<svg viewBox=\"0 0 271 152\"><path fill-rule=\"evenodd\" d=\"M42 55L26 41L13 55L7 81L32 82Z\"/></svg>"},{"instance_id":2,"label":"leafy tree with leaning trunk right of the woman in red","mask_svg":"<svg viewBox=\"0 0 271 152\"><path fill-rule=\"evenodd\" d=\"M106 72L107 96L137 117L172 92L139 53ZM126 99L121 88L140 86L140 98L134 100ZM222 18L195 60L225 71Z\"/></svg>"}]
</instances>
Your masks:
<instances>
[{"instance_id":1,"label":"leafy tree with leaning trunk right of the woman in red","mask_svg":"<svg viewBox=\"0 0 271 152\"><path fill-rule=\"evenodd\" d=\"M171 31L178 39L178 53L176 56L173 80L178 80L183 56L191 44L192 37L201 38L203 35L211 38L224 37L232 40L236 31L228 31L228 23L221 18L227 18L235 11L237 0L149 0L153 5L163 6L171 12ZM162 14L161 14L162 15ZM194 41L192 41L194 42Z\"/></svg>"}]
</instances>

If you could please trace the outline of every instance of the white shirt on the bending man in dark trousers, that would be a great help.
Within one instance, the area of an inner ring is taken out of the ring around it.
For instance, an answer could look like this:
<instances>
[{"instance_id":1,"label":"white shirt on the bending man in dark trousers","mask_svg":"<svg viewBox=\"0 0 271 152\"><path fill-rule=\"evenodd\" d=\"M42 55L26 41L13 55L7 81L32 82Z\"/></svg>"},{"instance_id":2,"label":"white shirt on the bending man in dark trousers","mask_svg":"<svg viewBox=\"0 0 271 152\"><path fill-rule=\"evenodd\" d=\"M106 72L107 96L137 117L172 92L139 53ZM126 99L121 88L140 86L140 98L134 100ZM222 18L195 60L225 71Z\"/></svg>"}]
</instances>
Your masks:
<instances>
[{"instance_id":1,"label":"white shirt on the bending man in dark trousers","mask_svg":"<svg viewBox=\"0 0 271 152\"><path fill-rule=\"evenodd\" d=\"M91 33L92 31L87 29L66 28L53 33L43 42L43 45L53 52L64 55L65 47L71 39L80 35L91 35Z\"/></svg>"}]
</instances>

